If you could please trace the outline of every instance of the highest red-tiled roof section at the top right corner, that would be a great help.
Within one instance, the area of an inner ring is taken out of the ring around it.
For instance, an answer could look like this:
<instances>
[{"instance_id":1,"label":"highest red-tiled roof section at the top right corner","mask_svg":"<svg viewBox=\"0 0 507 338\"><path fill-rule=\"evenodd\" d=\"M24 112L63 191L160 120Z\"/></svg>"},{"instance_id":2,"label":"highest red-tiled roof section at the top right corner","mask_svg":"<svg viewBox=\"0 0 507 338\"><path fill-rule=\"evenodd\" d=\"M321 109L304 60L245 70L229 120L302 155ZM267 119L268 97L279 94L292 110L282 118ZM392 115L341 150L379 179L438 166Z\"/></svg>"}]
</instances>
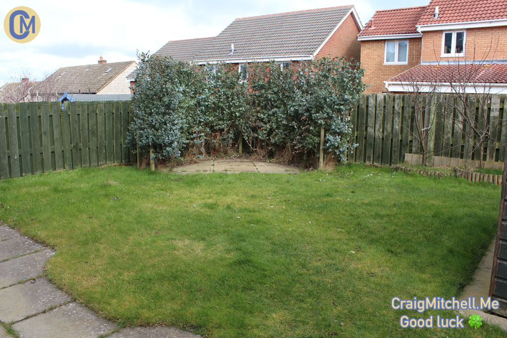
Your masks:
<instances>
[{"instance_id":1,"label":"highest red-tiled roof section at the top right corner","mask_svg":"<svg viewBox=\"0 0 507 338\"><path fill-rule=\"evenodd\" d=\"M436 6L438 18L434 18ZM507 19L507 0L431 0L417 25L494 19Z\"/></svg>"}]
</instances>

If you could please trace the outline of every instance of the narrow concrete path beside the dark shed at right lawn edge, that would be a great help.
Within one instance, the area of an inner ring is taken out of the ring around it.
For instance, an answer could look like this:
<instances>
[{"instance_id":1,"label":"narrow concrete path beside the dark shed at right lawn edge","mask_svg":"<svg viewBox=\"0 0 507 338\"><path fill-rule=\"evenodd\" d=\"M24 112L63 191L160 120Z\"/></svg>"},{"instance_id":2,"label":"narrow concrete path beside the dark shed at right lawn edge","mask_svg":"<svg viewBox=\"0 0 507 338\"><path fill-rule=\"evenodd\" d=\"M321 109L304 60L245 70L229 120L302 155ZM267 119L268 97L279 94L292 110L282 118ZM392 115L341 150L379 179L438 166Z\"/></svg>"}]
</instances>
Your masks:
<instances>
[{"instance_id":1,"label":"narrow concrete path beside the dark shed at right lawn edge","mask_svg":"<svg viewBox=\"0 0 507 338\"><path fill-rule=\"evenodd\" d=\"M463 292L459 296L460 300L466 300L468 297L476 298L476 305L481 304L480 297L487 298L489 296L489 283L491 281L491 269L493 267L493 256L495 253L495 240L489 245L488 251L484 257L482 257L479 267L474 273L473 281L465 286ZM507 331L507 318L495 316L493 314L486 313L481 310L461 310L459 311L465 322L468 322L468 318L473 314L480 315L482 319L492 325L497 325Z\"/></svg>"}]
</instances>

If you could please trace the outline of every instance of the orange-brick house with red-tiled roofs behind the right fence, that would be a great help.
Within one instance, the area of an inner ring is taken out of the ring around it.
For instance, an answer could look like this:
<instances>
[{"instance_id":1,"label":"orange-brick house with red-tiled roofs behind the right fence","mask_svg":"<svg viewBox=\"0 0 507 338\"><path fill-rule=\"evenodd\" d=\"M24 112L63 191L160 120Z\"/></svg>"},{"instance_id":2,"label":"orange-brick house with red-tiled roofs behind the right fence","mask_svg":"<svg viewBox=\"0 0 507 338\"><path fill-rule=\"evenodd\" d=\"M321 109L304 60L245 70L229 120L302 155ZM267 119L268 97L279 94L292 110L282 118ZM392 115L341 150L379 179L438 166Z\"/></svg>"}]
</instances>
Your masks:
<instances>
[{"instance_id":1,"label":"orange-brick house with red-tiled roofs behind the right fence","mask_svg":"<svg viewBox=\"0 0 507 338\"><path fill-rule=\"evenodd\" d=\"M367 92L507 93L507 0L431 0L375 12L357 36Z\"/></svg>"}]
</instances>

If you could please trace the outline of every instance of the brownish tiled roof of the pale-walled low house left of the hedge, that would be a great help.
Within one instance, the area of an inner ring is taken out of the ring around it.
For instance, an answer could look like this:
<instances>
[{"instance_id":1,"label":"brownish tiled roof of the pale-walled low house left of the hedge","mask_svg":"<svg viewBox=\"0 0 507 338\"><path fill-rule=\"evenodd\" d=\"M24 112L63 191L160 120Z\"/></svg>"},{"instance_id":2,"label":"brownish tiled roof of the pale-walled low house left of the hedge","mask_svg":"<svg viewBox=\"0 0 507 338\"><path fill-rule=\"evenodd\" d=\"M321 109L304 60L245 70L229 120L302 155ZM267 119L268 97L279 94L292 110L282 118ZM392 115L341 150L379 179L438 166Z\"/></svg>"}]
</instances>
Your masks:
<instances>
[{"instance_id":1,"label":"brownish tiled roof of the pale-walled low house left of the hedge","mask_svg":"<svg viewBox=\"0 0 507 338\"><path fill-rule=\"evenodd\" d=\"M134 61L61 67L45 81L58 93L97 93Z\"/></svg>"}]
</instances>

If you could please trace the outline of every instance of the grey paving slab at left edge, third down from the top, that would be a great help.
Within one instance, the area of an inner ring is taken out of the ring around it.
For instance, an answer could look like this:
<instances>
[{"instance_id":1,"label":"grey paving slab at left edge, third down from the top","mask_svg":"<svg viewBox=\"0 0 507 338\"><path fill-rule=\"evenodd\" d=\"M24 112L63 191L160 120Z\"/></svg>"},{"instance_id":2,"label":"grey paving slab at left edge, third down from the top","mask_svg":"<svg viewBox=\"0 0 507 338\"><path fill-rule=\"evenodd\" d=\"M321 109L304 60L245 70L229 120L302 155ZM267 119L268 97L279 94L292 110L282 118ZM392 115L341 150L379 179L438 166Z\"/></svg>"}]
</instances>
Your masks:
<instances>
[{"instance_id":1,"label":"grey paving slab at left edge, third down from the top","mask_svg":"<svg viewBox=\"0 0 507 338\"><path fill-rule=\"evenodd\" d=\"M71 297L47 278L38 278L0 289L0 321L19 321L70 302Z\"/></svg>"}]
</instances>

